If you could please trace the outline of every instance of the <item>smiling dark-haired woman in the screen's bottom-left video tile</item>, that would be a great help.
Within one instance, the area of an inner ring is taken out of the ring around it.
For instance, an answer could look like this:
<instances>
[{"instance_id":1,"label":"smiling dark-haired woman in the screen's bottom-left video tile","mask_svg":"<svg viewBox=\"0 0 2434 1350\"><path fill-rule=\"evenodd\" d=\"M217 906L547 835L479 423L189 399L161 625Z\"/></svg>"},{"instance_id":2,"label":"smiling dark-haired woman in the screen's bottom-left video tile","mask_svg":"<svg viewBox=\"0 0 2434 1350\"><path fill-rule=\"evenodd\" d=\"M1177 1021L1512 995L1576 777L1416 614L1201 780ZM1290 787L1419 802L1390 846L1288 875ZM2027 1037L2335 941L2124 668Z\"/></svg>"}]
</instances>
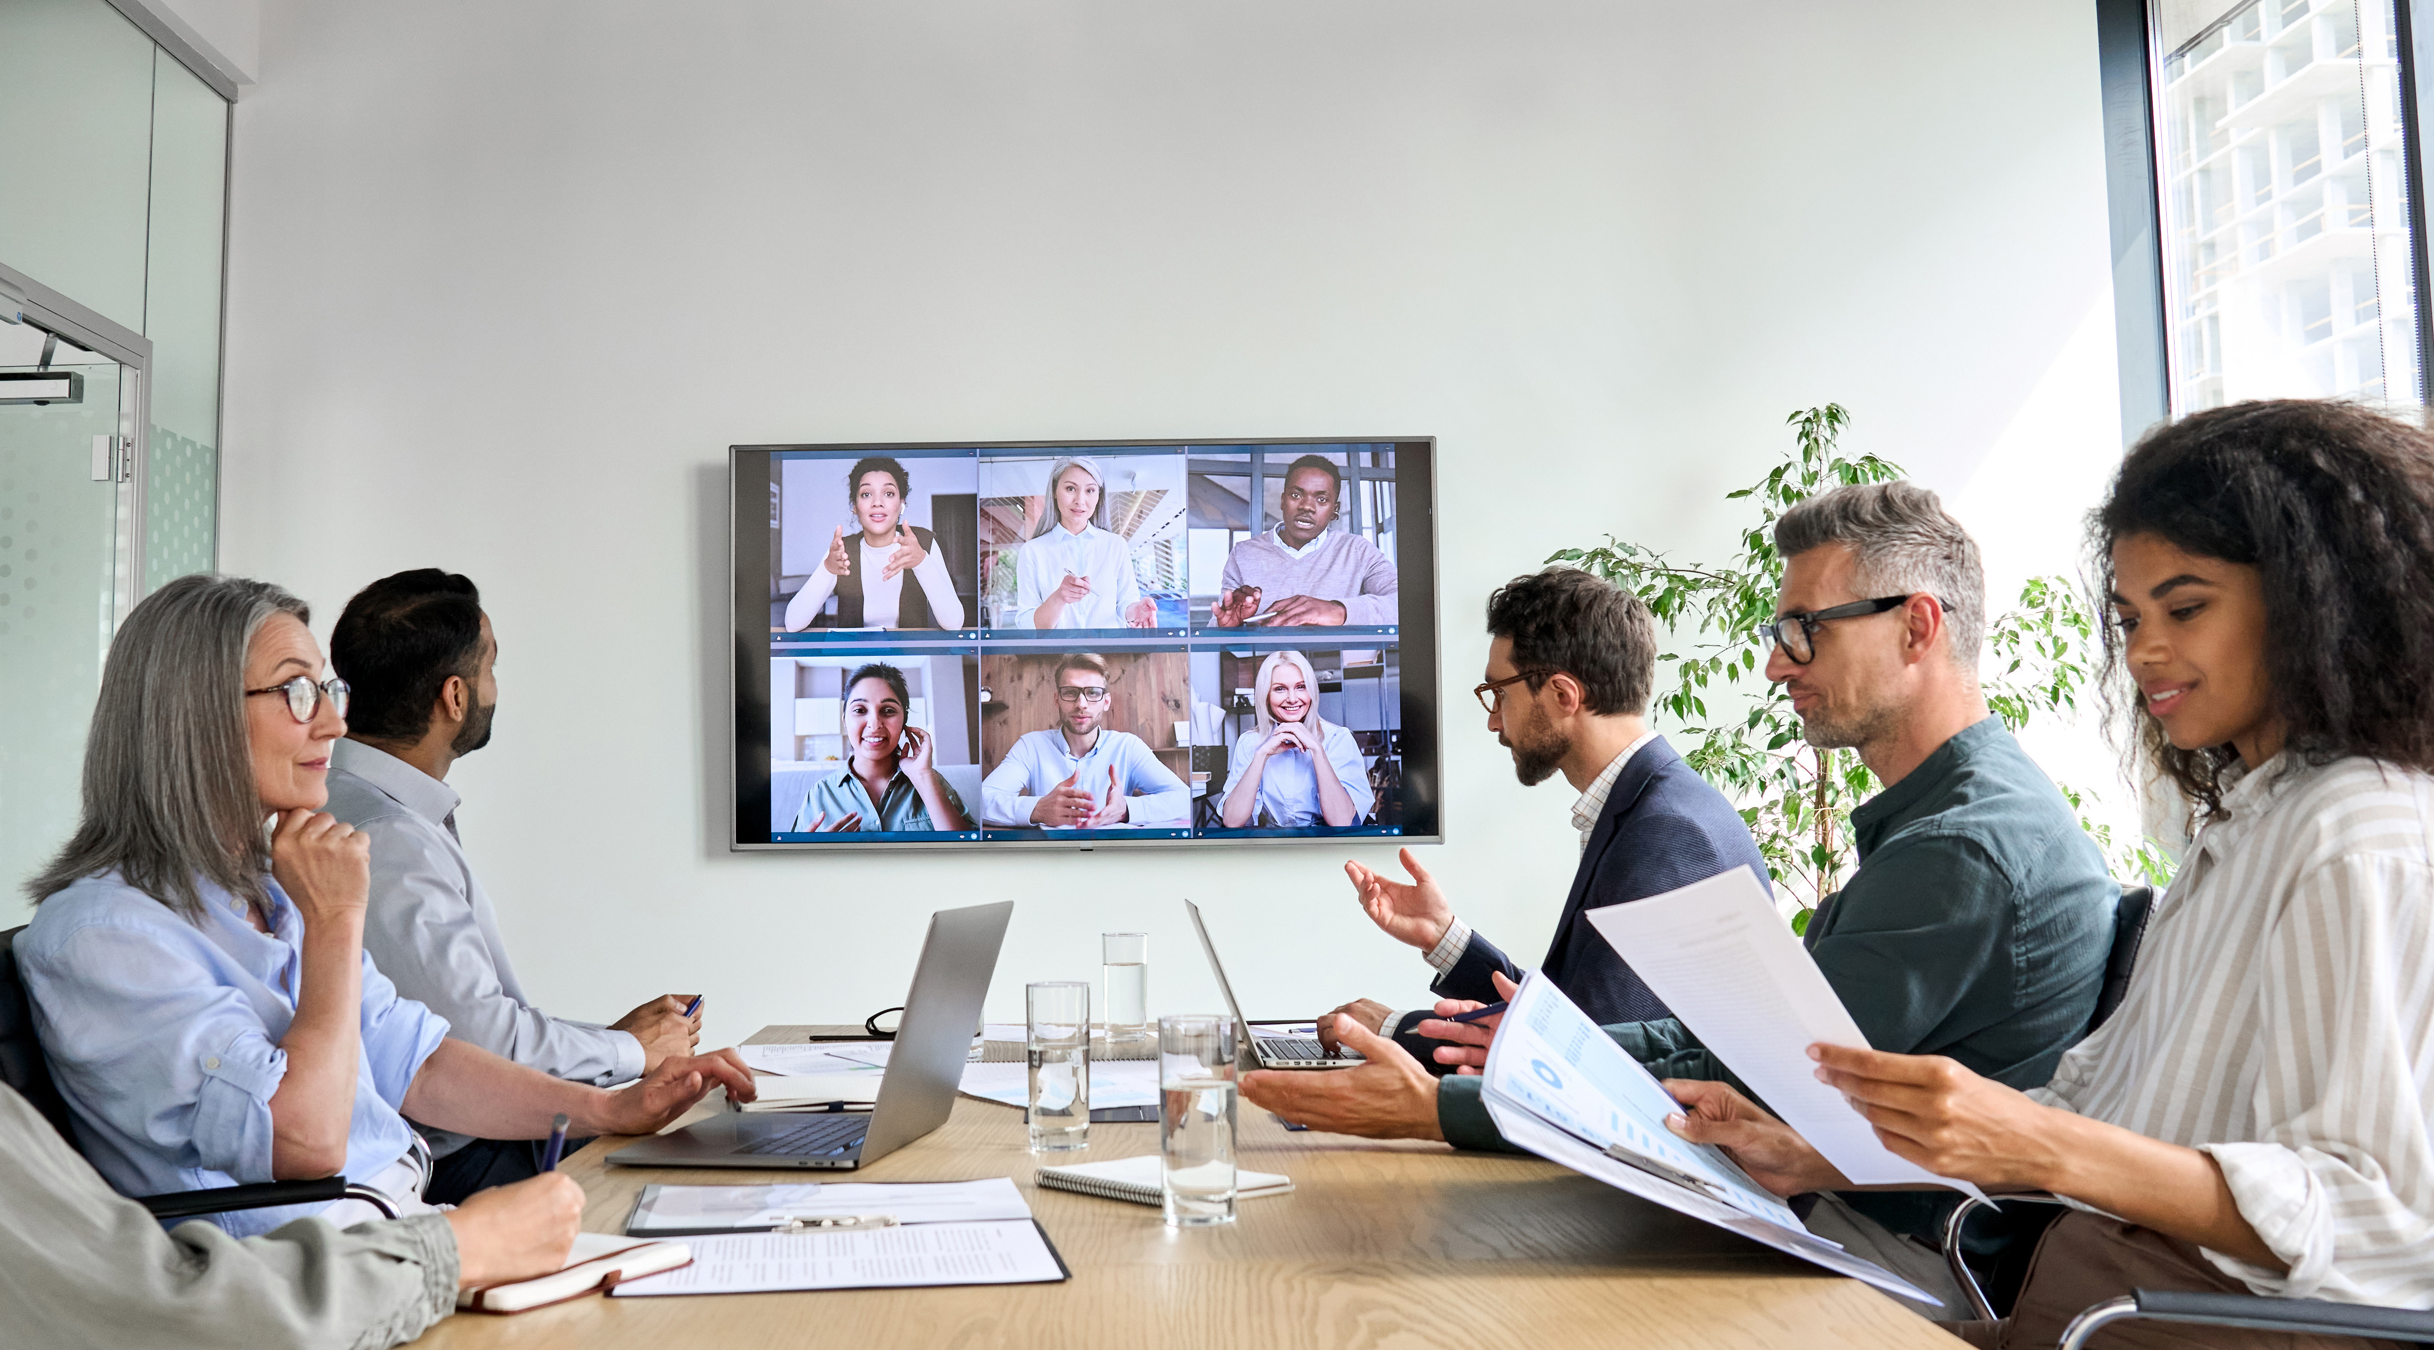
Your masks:
<instances>
[{"instance_id":1,"label":"smiling dark-haired woman in the screen's bottom-left video tile","mask_svg":"<svg viewBox=\"0 0 2434 1350\"><path fill-rule=\"evenodd\" d=\"M896 666L871 662L845 681L837 725L849 754L845 769L820 778L793 812L798 834L857 829L971 829L964 800L937 771L937 737L905 725L913 698Z\"/></svg>"}]
</instances>

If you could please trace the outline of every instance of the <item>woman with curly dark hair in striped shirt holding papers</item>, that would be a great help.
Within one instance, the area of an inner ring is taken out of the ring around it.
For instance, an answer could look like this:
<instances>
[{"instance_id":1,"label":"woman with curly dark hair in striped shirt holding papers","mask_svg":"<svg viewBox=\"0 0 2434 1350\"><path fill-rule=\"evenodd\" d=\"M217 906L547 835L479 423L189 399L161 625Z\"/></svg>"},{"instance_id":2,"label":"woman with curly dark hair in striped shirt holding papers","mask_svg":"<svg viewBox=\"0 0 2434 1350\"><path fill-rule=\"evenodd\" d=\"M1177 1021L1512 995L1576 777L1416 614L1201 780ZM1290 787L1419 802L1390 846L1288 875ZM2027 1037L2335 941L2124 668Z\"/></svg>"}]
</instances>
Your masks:
<instances>
[{"instance_id":1,"label":"woman with curly dark hair in striped shirt holding papers","mask_svg":"<svg viewBox=\"0 0 2434 1350\"><path fill-rule=\"evenodd\" d=\"M2195 414L2091 535L2115 703L2198 825L2120 1009L2035 1092L1835 1046L1818 1078L1937 1175L2071 1202L1972 1343L2054 1345L2130 1289L2434 1306L2434 438L2349 404ZM1728 1087L1667 1087L1779 1194L1838 1189ZM2191 1343L2315 1345L2098 1338Z\"/></svg>"}]
</instances>

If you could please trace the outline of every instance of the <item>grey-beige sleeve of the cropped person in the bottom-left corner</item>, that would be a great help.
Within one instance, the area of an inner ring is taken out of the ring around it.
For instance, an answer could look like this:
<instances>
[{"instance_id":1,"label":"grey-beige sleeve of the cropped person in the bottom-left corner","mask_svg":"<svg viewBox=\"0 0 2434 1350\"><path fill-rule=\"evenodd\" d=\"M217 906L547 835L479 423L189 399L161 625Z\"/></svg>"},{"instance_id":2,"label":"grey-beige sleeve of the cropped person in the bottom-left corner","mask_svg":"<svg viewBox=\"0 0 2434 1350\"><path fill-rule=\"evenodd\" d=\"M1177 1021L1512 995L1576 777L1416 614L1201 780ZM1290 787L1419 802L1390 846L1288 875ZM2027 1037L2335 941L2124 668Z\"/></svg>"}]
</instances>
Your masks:
<instances>
[{"instance_id":1,"label":"grey-beige sleeve of the cropped person in the bottom-left corner","mask_svg":"<svg viewBox=\"0 0 2434 1350\"><path fill-rule=\"evenodd\" d=\"M372 1350L455 1309L443 1214L348 1231L297 1219L231 1238L112 1194L34 1107L0 1085L0 1328L10 1345Z\"/></svg>"}]
</instances>

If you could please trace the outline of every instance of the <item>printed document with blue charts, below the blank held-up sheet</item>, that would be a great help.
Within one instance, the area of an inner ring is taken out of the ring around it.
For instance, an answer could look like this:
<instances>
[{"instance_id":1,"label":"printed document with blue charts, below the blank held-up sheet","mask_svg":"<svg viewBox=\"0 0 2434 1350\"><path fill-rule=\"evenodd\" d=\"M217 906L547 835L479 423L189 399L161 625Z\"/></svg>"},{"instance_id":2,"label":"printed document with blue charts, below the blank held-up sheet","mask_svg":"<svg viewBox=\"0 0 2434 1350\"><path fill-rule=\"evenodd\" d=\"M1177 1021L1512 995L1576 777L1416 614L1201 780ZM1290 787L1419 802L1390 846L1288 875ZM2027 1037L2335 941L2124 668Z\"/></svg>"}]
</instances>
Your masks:
<instances>
[{"instance_id":1,"label":"printed document with blue charts, below the blank held-up sheet","mask_svg":"<svg viewBox=\"0 0 2434 1350\"><path fill-rule=\"evenodd\" d=\"M1881 1265L1813 1236L1721 1151L1665 1129L1679 1104L1543 973L1531 971L1487 1048L1482 1099L1504 1138L1877 1289L1937 1304Z\"/></svg>"}]
</instances>

